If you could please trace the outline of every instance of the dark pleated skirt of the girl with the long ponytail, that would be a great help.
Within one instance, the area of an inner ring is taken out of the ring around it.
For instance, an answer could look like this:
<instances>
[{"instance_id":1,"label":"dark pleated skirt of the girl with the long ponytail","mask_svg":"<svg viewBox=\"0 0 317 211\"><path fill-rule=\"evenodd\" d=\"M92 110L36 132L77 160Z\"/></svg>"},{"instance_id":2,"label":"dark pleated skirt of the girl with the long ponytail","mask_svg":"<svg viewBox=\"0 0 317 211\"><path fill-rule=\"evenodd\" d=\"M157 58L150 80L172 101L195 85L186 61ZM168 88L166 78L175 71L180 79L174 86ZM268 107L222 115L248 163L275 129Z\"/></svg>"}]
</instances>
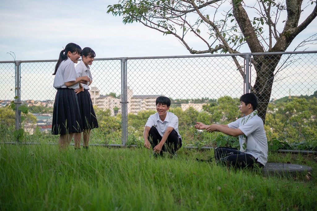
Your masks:
<instances>
[{"instance_id":1,"label":"dark pleated skirt of the girl with the long ponytail","mask_svg":"<svg viewBox=\"0 0 317 211\"><path fill-rule=\"evenodd\" d=\"M82 121L74 89L59 88L53 109L52 134L80 133Z\"/></svg>"}]
</instances>

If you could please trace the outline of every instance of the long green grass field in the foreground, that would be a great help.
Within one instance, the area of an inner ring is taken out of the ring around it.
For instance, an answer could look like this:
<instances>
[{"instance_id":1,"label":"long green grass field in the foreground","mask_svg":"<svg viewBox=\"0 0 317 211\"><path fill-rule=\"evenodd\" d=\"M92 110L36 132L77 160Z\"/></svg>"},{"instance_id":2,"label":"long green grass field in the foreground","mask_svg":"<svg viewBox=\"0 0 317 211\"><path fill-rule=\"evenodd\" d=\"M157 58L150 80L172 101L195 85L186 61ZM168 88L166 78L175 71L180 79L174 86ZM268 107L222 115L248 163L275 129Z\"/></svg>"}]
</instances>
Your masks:
<instances>
[{"instance_id":1,"label":"long green grass field in the foreground","mask_svg":"<svg viewBox=\"0 0 317 211\"><path fill-rule=\"evenodd\" d=\"M263 176L200 163L213 151L59 151L56 145L0 144L0 210L316 210L312 155L269 154L269 162L310 166L310 178ZM151 156L151 157L150 157Z\"/></svg>"}]
</instances>

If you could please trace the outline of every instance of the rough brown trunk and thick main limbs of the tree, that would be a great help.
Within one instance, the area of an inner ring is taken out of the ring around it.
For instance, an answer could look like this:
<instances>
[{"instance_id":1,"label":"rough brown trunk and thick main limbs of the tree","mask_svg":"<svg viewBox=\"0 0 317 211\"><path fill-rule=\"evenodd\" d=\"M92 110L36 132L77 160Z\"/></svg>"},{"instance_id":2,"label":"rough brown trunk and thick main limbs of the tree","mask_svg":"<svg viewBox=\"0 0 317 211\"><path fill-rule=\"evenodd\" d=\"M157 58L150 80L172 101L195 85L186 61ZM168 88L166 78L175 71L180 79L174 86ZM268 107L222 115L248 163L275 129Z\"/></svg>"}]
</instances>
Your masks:
<instances>
[{"instance_id":1,"label":"rough brown trunk and thick main limbs of the tree","mask_svg":"<svg viewBox=\"0 0 317 211\"><path fill-rule=\"evenodd\" d=\"M284 52L294 40L294 38L314 20L317 15L317 6L307 19L298 26L301 15L302 0L287 0L287 21L283 32L277 38L276 43L270 52ZM247 44L252 53L264 52L260 41L256 37L247 12L244 10L241 1L232 0L233 15L246 37ZM271 97L271 91L274 81L274 71L281 59L281 55L262 55L254 56L253 64L256 70L256 81L251 91L256 94L259 100L257 108L259 117L265 123L266 111Z\"/></svg>"}]
</instances>

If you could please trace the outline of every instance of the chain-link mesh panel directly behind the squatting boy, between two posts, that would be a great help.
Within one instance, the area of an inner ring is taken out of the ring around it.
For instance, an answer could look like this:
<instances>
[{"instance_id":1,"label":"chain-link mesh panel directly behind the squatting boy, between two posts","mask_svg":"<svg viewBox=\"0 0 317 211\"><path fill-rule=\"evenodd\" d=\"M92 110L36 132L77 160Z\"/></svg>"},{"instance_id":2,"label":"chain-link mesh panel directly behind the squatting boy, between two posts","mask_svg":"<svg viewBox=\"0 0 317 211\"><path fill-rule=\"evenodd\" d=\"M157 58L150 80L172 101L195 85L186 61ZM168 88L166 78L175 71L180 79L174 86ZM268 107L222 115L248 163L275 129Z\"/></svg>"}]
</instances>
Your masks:
<instances>
[{"instance_id":1,"label":"chain-link mesh panel directly behind the squatting boy, between two posts","mask_svg":"<svg viewBox=\"0 0 317 211\"><path fill-rule=\"evenodd\" d=\"M185 145L204 142L194 128L196 121L222 123L239 115L238 100L231 96L243 93L243 77L230 57L128 60L127 68L130 139L142 140L160 95L171 98L170 112L178 116Z\"/></svg>"}]
</instances>

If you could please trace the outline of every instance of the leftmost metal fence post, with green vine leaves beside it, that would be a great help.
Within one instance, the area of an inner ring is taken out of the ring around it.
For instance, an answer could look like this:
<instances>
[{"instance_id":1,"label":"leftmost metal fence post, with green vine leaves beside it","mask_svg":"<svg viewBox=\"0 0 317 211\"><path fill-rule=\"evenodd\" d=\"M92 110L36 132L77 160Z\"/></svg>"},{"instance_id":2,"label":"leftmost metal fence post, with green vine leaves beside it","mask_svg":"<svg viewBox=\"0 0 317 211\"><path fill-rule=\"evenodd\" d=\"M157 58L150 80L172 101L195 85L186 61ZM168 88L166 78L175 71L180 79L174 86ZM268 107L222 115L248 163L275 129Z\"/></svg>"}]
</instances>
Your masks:
<instances>
[{"instance_id":1,"label":"leftmost metal fence post, with green vine leaves beside it","mask_svg":"<svg viewBox=\"0 0 317 211\"><path fill-rule=\"evenodd\" d=\"M21 105L21 80L20 80L20 64L21 61L15 61L16 64L16 99L15 99L15 105L16 105L16 130L19 130L21 128L21 111L18 109L18 107Z\"/></svg>"}]
</instances>

